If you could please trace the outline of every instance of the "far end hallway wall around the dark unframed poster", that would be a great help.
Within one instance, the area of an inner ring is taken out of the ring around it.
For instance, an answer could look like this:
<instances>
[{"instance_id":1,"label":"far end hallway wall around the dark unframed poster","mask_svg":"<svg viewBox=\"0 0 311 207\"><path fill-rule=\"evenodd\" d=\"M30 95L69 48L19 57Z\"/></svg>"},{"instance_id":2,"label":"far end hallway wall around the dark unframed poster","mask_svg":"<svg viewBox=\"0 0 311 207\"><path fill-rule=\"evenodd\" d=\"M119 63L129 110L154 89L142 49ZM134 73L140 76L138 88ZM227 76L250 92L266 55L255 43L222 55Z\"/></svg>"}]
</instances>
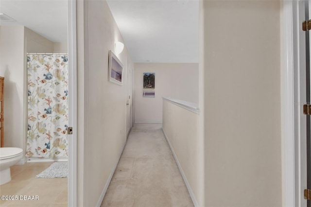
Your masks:
<instances>
[{"instance_id":1,"label":"far end hallway wall around the dark unframed poster","mask_svg":"<svg viewBox=\"0 0 311 207\"><path fill-rule=\"evenodd\" d=\"M197 63L135 63L135 122L162 122L162 97L198 103ZM143 73L155 72L155 97L142 97Z\"/></svg>"}]
</instances>

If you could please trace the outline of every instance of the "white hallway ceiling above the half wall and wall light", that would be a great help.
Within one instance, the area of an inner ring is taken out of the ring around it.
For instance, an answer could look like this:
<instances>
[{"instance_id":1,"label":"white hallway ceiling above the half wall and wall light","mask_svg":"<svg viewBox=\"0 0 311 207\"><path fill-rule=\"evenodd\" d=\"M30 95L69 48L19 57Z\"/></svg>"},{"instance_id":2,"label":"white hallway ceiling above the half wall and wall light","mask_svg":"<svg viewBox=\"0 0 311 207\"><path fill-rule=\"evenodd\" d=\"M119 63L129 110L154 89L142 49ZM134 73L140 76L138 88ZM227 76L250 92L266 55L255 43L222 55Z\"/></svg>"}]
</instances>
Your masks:
<instances>
[{"instance_id":1,"label":"white hallway ceiling above the half wall and wall light","mask_svg":"<svg viewBox=\"0 0 311 207\"><path fill-rule=\"evenodd\" d=\"M108 5L134 62L198 62L198 0L108 0Z\"/></svg>"}]
</instances>

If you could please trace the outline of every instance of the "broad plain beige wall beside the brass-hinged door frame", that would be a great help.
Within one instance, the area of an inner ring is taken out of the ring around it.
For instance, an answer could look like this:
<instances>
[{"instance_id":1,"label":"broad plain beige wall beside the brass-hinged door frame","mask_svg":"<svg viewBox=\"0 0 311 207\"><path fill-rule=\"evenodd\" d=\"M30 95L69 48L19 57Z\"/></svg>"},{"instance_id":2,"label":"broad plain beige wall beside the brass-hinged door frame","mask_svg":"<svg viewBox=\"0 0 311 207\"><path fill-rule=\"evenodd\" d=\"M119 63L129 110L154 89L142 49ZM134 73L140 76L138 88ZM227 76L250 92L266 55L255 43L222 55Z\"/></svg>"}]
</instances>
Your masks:
<instances>
[{"instance_id":1,"label":"broad plain beige wall beside the brass-hinged door frame","mask_svg":"<svg viewBox=\"0 0 311 207\"><path fill-rule=\"evenodd\" d=\"M205 206L280 207L280 2L203 11Z\"/></svg>"}]
</instances>

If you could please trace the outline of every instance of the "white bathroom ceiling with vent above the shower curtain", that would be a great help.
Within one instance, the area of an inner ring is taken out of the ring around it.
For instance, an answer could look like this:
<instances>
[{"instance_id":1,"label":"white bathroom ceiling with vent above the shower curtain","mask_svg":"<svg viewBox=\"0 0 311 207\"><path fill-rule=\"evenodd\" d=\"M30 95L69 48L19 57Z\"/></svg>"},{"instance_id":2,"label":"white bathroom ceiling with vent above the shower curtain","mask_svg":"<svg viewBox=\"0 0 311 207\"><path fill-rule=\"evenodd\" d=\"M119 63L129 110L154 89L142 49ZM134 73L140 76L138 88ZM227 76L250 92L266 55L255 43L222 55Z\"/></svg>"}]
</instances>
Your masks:
<instances>
[{"instance_id":1,"label":"white bathroom ceiling with vent above the shower curtain","mask_svg":"<svg viewBox=\"0 0 311 207\"><path fill-rule=\"evenodd\" d=\"M16 20L0 25L23 25L52 42L67 42L67 0L0 0L0 13Z\"/></svg>"}]
</instances>

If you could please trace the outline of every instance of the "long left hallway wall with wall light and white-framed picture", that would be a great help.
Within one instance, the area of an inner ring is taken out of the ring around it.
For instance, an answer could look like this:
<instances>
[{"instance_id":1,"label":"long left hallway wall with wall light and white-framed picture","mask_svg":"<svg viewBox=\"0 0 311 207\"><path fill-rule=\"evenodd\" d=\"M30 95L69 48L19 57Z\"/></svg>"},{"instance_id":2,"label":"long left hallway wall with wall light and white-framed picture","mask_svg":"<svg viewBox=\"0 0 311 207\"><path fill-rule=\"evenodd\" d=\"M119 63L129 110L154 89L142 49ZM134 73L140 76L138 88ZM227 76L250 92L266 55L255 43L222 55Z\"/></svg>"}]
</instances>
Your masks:
<instances>
[{"instance_id":1,"label":"long left hallway wall with wall light and white-framed picture","mask_svg":"<svg viewBox=\"0 0 311 207\"><path fill-rule=\"evenodd\" d=\"M78 155L83 153L78 157L82 169L78 188L83 185L83 190L78 189L78 206L91 207L102 198L126 141L126 62L132 61L125 46L118 55L124 65L124 84L108 82L108 51L114 51L115 41L124 42L119 29L106 1L79 2L78 11L78 30L84 33L78 33L77 45L79 63L84 59L84 66L78 64L78 74L84 77L78 83L78 128L84 128L84 134L78 135L78 147L83 146L78 149Z\"/></svg>"}]
</instances>

